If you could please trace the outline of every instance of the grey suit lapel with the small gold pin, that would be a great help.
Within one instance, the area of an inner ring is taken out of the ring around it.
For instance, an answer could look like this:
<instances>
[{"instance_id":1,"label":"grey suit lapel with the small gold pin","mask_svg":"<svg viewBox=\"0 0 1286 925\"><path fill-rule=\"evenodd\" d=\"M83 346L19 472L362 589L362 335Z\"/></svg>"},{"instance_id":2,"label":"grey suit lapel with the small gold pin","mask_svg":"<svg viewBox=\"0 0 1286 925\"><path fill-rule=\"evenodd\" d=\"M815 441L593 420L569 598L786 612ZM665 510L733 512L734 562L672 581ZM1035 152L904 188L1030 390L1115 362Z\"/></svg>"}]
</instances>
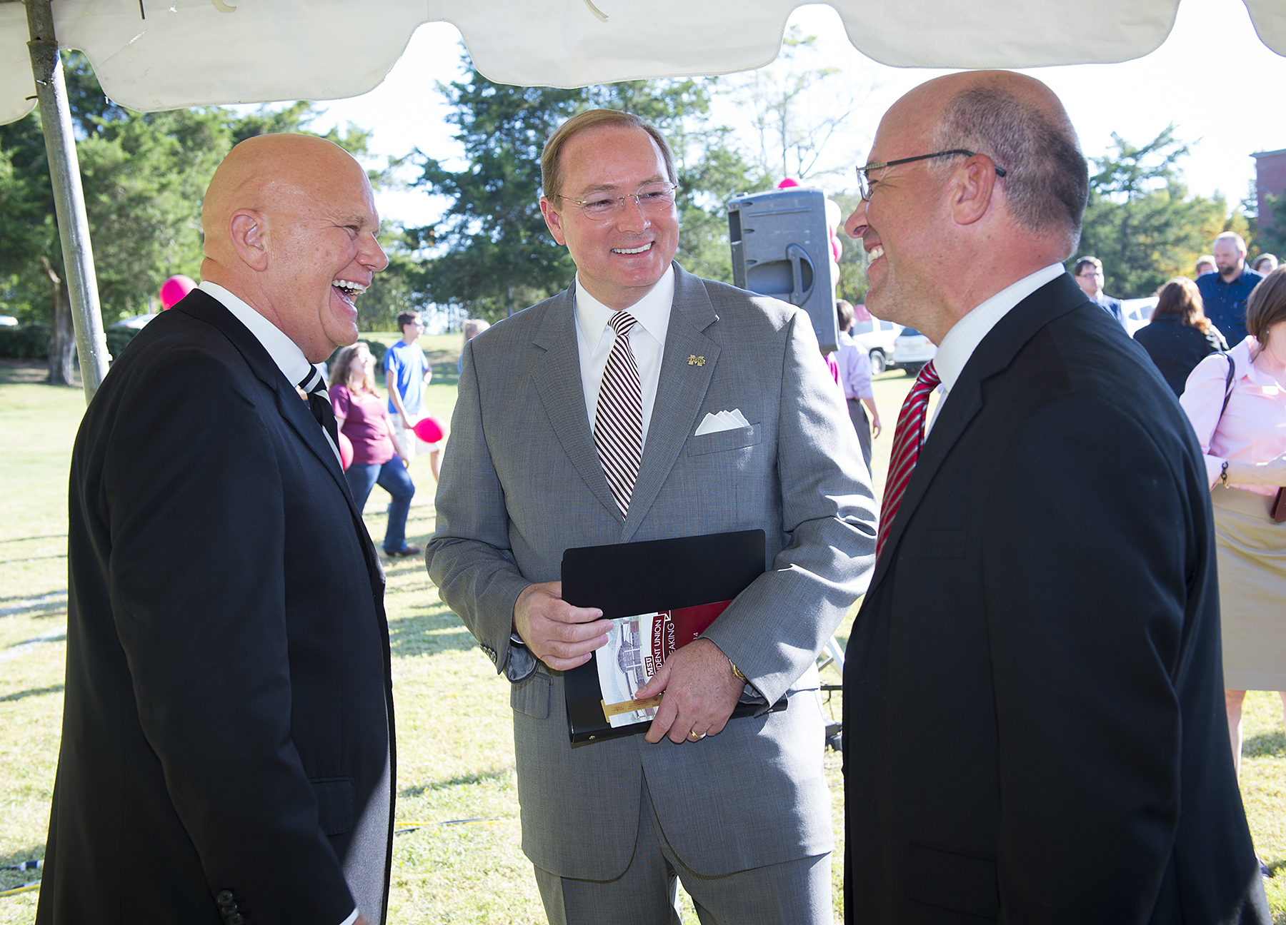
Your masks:
<instances>
[{"instance_id":1,"label":"grey suit lapel with the small gold pin","mask_svg":"<svg viewBox=\"0 0 1286 925\"><path fill-rule=\"evenodd\" d=\"M678 263L674 270L674 306L661 352L656 403L621 542L629 542L638 532L670 477L688 434L696 429L697 414L719 364L719 344L702 333L719 320L710 297L700 279ZM702 356L705 362L689 364L691 356Z\"/></svg>"}]
</instances>

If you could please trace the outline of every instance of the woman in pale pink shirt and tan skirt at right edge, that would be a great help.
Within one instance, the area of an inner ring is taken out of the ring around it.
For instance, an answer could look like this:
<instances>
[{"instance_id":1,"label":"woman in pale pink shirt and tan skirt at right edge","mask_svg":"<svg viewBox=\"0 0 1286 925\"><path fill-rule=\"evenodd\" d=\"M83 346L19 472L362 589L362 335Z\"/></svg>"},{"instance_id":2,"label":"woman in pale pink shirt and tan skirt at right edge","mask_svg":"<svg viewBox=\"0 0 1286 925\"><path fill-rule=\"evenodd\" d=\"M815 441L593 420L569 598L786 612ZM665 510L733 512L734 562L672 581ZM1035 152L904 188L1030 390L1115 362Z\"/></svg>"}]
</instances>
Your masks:
<instances>
[{"instance_id":1,"label":"woman in pale pink shirt and tan skirt at right edge","mask_svg":"<svg viewBox=\"0 0 1286 925\"><path fill-rule=\"evenodd\" d=\"M1286 267L1251 292L1246 330L1250 337L1227 355L1197 364L1179 398L1211 488L1224 699L1238 773L1246 691L1278 691L1286 708L1286 523L1271 514L1286 486ZM1224 409L1229 362L1232 393Z\"/></svg>"}]
</instances>

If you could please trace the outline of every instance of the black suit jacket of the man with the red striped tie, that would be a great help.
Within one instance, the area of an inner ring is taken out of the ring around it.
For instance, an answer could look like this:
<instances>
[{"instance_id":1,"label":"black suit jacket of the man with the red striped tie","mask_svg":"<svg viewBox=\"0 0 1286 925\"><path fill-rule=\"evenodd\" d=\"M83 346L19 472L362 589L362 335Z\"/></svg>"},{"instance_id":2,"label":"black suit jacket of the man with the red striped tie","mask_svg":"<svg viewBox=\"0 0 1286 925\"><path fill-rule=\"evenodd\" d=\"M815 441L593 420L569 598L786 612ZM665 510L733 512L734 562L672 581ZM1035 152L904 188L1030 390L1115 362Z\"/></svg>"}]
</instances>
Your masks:
<instances>
[{"instance_id":1,"label":"black suit jacket of the man with the red striped tie","mask_svg":"<svg viewBox=\"0 0 1286 925\"><path fill-rule=\"evenodd\" d=\"M1061 276L964 366L854 624L846 920L1267 922L1222 689L1196 439Z\"/></svg>"}]
</instances>

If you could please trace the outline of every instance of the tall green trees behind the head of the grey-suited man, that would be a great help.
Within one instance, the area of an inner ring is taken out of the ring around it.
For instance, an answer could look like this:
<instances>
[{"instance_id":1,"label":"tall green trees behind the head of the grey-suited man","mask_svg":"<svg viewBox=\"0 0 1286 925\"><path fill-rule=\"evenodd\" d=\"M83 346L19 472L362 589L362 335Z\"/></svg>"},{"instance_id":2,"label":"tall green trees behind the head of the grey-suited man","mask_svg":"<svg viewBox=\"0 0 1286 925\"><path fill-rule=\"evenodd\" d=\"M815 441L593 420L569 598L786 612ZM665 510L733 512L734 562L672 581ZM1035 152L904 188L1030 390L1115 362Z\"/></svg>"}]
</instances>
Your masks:
<instances>
[{"instance_id":1,"label":"tall green trees behind the head of the grey-suited man","mask_svg":"<svg viewBox=\"0 0 1286 925\"><path fill-rule=\"evenodd\" d=\"M423 266L428 302L463 306L495 320L563 289L575 267L540 215L540 152L545 139L584 109L637 113L658 126L679 175L679 260L730 281L724 202L752 186L747 166L709 125L711 80L630 81L563 90L493 84L476 69L439 89L451 105L467 166L448 170L415 152L415 181L448 206L430 227L408 229L413 251L437 248Z\"/></svg>"}]
</instances>

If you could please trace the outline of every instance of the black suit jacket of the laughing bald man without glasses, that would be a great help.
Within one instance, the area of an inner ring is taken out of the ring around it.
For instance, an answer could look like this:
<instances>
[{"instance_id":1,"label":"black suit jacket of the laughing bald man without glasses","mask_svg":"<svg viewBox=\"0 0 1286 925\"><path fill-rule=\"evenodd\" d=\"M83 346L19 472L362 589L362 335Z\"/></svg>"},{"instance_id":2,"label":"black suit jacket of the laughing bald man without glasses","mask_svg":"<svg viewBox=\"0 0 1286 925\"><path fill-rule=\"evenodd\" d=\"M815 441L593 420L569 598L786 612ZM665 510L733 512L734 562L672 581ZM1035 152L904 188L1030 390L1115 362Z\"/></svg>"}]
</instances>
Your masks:
<instances>
[{"instance_id":1,"label":"black suit jacket of the laughing bald man without glasses","mask_svg":"<svg viewBox=\"0 0 1286 925\"><path fill-rule=\"evenodd\" d=\"M340 925L346 870L378 917L383 572L307 405L201 290L134 339L90 403L68 560L37 921Z\"/></svg>"}]
</instances>

